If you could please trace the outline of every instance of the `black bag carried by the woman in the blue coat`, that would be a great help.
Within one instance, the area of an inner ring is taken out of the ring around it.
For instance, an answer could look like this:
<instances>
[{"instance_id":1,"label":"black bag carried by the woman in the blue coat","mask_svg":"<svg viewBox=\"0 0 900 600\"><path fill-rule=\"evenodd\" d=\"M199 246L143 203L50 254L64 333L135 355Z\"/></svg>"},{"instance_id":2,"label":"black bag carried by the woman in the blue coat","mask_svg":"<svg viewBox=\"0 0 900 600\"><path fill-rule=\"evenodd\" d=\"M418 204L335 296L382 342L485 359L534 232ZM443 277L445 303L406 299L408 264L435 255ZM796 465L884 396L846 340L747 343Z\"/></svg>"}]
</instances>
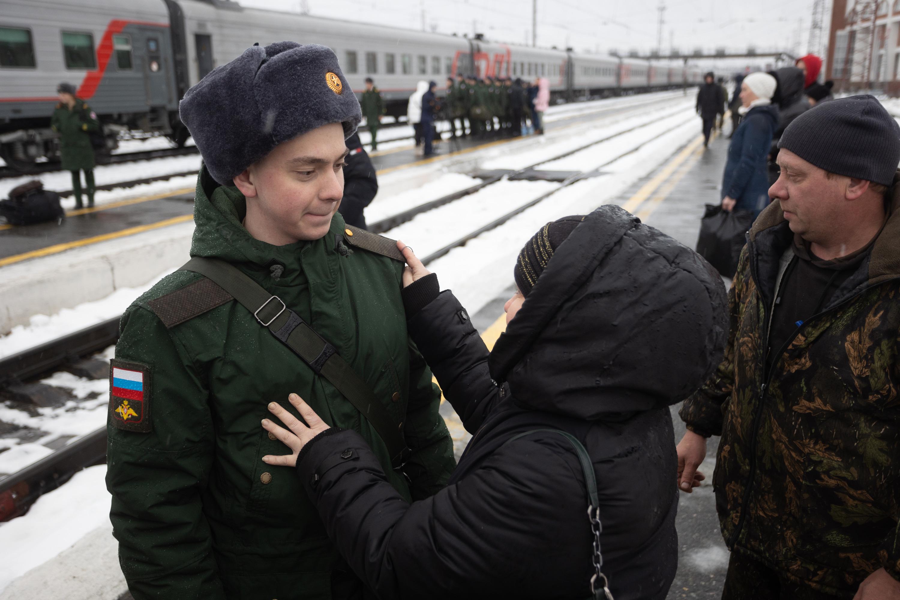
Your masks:
<instances>
[{"instance_id":1,"label":"black bag carried by the woman in the blue coat","mask_svg":"<svg viewBox=\"0 0 900 600\"><path fill-rule=\"evenodd\" d=\"M707 204L700 220L697 253L707 259L725 277L734 277L744 237L753 224L749 210L723 210L719 204Z\"/></svg>"}]
</instances>

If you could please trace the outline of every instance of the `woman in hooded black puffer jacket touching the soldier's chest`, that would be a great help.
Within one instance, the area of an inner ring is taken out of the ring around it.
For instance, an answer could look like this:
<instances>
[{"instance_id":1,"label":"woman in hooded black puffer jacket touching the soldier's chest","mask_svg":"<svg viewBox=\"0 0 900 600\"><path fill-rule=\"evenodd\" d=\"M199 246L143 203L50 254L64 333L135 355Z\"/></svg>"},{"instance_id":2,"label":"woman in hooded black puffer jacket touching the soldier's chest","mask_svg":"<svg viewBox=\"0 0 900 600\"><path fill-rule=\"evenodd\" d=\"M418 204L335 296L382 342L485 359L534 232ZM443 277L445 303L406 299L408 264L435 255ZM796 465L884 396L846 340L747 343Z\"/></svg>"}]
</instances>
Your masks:
<instances>
[{"instance_id":1,"label":"woman in hooded black puffer jacket touching the soldier's chest","mask_svg":"<svg viewBox=\"0 0 900 600\"><path fill-rule=\"evenodd\" d=\"M405 255L410 336L473 434L447 487L406 502L356 432L329 429L296 396L309 426L275 407L294 433L264 426L294 453L266 462L296 461L329 537L380 598L583 599L595 571L576 453L546 431L510 441L563 430L590 454L612 594L665 598L678 562L669 406L721 359L716 272L615 206L548 223L519 256L525 301L510 300L520 309L489 354L453 294Z\"/></svg>"}]
</instances>

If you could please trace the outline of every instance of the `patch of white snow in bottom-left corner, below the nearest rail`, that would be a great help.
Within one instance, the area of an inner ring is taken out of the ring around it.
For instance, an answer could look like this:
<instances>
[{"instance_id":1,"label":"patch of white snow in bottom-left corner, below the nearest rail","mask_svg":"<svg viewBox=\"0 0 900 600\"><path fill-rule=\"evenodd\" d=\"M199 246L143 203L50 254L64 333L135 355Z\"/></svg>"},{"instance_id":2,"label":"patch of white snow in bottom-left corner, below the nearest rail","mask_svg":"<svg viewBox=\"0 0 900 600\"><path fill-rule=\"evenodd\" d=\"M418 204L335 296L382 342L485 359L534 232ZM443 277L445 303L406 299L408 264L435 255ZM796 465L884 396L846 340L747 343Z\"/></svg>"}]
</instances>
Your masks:
<instances>
[{"instance_id":1,"label":"patch of white snow in bottom-left corner, below the nearest rail","mask_svg":"<svg viewBox=\"0 0 900 600\"><path fill-rule=\"evenodd\" d=\"M0 592L14 578L109 523L105 476L106 465L82 470L62 488L38 498L24 517L0 524Z\"/></svg>"}]
</instances>

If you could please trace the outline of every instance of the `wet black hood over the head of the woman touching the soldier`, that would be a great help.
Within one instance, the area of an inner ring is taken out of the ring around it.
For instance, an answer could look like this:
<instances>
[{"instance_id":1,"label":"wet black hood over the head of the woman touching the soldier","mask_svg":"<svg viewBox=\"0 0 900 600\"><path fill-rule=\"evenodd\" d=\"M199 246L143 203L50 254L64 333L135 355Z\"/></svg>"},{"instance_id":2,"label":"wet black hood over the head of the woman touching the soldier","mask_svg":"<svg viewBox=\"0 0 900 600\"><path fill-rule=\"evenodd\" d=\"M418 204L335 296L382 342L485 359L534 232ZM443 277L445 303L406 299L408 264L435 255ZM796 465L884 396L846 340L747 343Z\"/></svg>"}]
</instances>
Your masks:
<instances>
[{"instance_id":1,"label":"wet black hood over the head of the woman touching the soldier","mask_svg":"<svg viewBox=\"0 0 900 600\"><path fill-rule=\"evenodd\" d=\"M522 407L583 419L675 404L721 361L725 286L697 253L602 206L557 247L494 345Z\"/></svg>"}]
</instances>

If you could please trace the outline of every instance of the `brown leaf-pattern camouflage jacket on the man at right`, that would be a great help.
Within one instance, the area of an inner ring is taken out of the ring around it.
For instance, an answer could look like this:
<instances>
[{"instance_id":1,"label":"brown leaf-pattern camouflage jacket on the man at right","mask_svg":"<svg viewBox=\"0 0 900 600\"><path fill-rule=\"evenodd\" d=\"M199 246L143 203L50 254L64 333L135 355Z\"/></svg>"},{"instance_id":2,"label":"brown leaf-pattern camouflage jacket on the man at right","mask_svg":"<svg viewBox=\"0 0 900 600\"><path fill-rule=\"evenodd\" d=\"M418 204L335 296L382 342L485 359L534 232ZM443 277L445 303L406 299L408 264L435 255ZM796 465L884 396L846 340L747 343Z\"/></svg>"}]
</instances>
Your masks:
<instances>
[{"instance_id":1,"label":"brown leaf-pattern camouflage jacket on the man at right","mask_svg":"<svg viewBox=\"0 0 900 600\"><path fill-rule=\"evenodd\" d=\"M773 201L729 291L725 360L680 410L694 432L722 435L713 487L728 547L847 598L882 567L900 579L900 194L892 204L868 259L771 349L764 379L793 240Z\"/></svg>"}]
</instances>

